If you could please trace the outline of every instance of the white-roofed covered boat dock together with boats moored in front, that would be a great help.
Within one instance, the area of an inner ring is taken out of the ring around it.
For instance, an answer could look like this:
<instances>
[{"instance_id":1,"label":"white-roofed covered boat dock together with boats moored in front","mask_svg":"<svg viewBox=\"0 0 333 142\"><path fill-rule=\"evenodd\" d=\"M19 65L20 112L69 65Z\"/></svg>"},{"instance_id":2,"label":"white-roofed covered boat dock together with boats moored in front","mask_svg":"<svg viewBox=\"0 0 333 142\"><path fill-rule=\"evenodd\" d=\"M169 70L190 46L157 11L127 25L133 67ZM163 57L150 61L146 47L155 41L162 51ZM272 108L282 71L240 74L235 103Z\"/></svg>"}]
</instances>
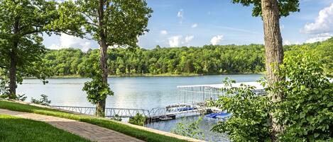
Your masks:
<instances>
[{"instance_id":1,"label":"white-roofed covered boat dock together with boats moored in front","mask_svg":"<svg viewBox=\"0 0 333 142\"><path fill-rule=\"evenodd\" d=\"M205 117L214 119L226 119L231 117L231 114L220 110L217 107L208 107L206 104L207 100L217 100L221 95L226 95L226 89L228 88L240 88L242 85L253 86L253 93L256 95L265 95L263 86L258 82L241 82L231 83L226 85L221 84L205 84L205 85L179 85L177 86L179 105L168 106L170 107L182 107L193 109L193 112L199 112L200 114L206 114ZM186 107L184 107L186 106ZM199 111L201 110L201 111ZM204 110L204 111L202 111ZM178 112L181 112L178 110ZM190 112L186 110L185 112Z\"/></svg>"}]
</instances>

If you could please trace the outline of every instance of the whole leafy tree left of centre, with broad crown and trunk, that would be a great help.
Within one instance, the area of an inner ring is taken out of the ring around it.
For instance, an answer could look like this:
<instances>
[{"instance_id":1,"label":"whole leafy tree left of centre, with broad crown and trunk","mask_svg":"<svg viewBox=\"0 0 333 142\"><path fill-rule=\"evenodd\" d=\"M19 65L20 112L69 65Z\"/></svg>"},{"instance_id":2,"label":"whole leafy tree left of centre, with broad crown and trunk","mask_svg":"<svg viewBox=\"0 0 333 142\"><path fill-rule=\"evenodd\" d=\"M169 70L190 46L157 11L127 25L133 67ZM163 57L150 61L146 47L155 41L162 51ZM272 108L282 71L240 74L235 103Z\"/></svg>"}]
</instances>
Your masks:
<instances>
[{"instance_id":1,"label":"whole leafy tree left of centre, with broad crown and trunk","mask_svg":"<svg viewBox=\"0 0 333 142\"><path fill-rule=\"evenodd\" d=\"M138 36L148 32L146 27L152 12L143 0L65 1L59 6L59 11L60 20L55 22L58 28L70 25L83 27L82 32L89 33L99 43L99 67L102 78L93 78L93 81L104 84L102 86L107 88L107 48L136 47ZM98 81L95 81L96 79ZM94 102L97 105L97 116L103 116L107 96L96 98L98 100Z\"/></svg>"}]
</instances>

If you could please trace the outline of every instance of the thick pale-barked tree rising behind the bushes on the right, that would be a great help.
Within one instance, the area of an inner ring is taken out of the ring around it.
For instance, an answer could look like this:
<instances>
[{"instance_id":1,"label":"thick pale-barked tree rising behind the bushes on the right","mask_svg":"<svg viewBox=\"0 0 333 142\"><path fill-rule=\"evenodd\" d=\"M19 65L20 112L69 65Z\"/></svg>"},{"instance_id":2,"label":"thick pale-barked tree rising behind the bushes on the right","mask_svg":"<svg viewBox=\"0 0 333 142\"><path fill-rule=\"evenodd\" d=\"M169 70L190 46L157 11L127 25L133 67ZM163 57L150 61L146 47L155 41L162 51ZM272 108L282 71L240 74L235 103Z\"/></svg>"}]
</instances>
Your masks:
<instances>
[{"instance_id":1,"label":"thick pale-barked tree rising behind the bushes on the right","mask_svg":"<svg viewBox=\"0 0 333 142\"><path fill-rule=\"evenodd\" d=\"M241 3L244 6L253 4L253 16L261 16L263 19L263 33L266 49L266 77L268 85L273 85L278 81L283 81L283 76L273 73L279 69L279 64L283 63L283 42L280 32L280 18L288 16L290 12L299 11L299 0L233 0L234 3ZM283 94L268 93L271 102L283 100ZM272 115L272 114L271 114ZM273 133L271 140L276 140L276 134L283 131L283 125L276 122L275 117L271 119Z\"/></svg>"}]
</instances>

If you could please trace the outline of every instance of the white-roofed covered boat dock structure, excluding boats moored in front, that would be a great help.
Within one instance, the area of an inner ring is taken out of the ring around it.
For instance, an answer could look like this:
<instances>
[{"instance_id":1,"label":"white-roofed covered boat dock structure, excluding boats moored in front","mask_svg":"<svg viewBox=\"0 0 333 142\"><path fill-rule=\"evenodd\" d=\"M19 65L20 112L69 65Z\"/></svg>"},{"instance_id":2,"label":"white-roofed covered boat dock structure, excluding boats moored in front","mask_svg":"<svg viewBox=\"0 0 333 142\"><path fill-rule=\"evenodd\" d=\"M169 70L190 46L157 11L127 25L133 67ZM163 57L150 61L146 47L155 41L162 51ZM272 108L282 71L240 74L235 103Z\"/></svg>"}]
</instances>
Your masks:
<instances>
[{"instance_id":1,"label":"white-roofed covered boat dock structure, excluding boats moored in front","mask_svg":"<svg viewBox=\"0 0 333 142\"><path fill-rule=\"evenodd\" d=\"M265 94L263 86L258 82L231 83L231 86L224 83L206 85L178 85L177 88L180 91L178 100L180 100L180 103L184 104L200 104L204 103L206 100L216 100L219 95L225 95L224 88L239 88L241 87L241 84L255 87L253 92L257 95Z\"/></svg>"}]
</instances>

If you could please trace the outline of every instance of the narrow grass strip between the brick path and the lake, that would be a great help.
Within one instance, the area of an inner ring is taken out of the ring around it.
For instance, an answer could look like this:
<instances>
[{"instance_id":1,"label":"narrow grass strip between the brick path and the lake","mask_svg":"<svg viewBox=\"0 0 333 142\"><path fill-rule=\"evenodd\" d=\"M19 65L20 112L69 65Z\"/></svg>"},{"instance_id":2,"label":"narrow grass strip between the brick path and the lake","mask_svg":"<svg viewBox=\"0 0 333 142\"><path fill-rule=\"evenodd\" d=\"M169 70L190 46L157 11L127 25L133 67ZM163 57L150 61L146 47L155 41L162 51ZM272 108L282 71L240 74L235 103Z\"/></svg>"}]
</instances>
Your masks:
<instances>
[{"instance_id":1,"label":"narrow grass strip between the brick path and the lake","mask_svg":"<svg viewBox=\"0 0 333 142\"><path fill-rule=\"evenodd\" d=\"M87 122L89 124L95 124L98 126L102 126L107 129L112 129L114 131L119 131L123 134L133 136L135 138L141 139L143 141L148 142L183 142L184 140L180 140L178 138L173 138L170 136L163 136L160 134L155 134L150 131L145 131L142 129L137 129L132 126L127 126L125 124L121 124L118 122L111 121L109 119L101 119L97 117L89 117L85 115L71 114L67 112L62 112L59 110L52 110L43 107L36 107L32 105L23 105L16 102L9 102L6 100L0 100L0 108L13 110L18 112L31 112L36 114L45 114L55 117L62 117L67 119L74 119L80 122Z\"/></svg>"}]
</instances>

